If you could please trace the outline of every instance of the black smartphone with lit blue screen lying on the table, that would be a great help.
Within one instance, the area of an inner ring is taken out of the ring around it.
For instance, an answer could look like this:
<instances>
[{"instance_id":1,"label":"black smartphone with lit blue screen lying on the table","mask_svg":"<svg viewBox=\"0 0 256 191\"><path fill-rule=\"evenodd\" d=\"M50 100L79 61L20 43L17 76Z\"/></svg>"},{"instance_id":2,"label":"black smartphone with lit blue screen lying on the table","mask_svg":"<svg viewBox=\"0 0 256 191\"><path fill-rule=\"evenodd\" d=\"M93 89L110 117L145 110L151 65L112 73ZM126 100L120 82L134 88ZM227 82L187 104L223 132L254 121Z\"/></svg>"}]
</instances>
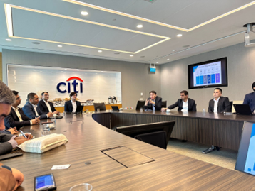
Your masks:
<instances>
[{"instance_id":1,"label":"black smartphone with lit blue screen lying on the table","mask_svg":"<svg viewBox=\"0 0 256 191\"><path fill-rule=\"evenodd\" d=\"M53 174L36 176L34 179L35 191L53 191L57 189Z\"/></svg>"}]
</instances>

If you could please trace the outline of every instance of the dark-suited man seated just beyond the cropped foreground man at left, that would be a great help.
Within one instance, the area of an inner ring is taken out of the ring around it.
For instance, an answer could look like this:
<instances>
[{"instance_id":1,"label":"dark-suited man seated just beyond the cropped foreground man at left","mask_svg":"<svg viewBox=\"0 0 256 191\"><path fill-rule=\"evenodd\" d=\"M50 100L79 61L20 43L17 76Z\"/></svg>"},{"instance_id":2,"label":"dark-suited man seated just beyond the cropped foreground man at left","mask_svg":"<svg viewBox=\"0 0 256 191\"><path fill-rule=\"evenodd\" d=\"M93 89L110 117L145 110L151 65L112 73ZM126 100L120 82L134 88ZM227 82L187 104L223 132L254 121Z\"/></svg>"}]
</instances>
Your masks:
<instances>
[{"instance_id":1,"label":"dark-suited man seated just beyond the cropped foreground man at left","mask_svg":"<svg viewBox=\"0 0 256 191\"><path fill-rule=\"evenodd\" d=\"M39 118L30 119L24 114L23 110L18 107L21 104L21 97L19 97L19 92L12 92L16 97L16 101L14 102L14 104L12 104L11 113L6 116L6 119L4 119L6 130L10 129L11 127L16 127L16 129L19 131L19 129L21 129L21 127L23 126L39 124Z\"/></svg>"}]
</instances>

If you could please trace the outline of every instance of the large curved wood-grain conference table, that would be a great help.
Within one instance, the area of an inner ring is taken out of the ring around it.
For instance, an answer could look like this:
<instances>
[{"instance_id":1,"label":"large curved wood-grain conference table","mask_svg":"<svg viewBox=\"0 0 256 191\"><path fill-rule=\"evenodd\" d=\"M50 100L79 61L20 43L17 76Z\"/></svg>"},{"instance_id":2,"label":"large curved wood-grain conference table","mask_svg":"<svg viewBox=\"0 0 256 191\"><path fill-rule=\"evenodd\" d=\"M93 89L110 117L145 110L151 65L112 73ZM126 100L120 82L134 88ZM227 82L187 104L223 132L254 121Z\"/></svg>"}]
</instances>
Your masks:
<instances>
[{"instance_id":1,"label":"large curved wood-grain conference table","mask_svg":"<svg viewBox=\"0 0 256 191\"><path fill-rule=\"evenodd\" d=\"M57 119L56 129L51 130L51 133L65 135L68 138L66 145L46 153L24 153L19 158L1 160L1 163L24 173L25 180L19 191L33 190L34 177L48 173L55 176L59 191L67 191L81 183L91 184L93 190L105 191L255 190L254 176L166 151L112 130L118 125L126 126L136 121L141 124L144 121L151 123L156 119L177 119L178 127L181 123L179 120L193 122L194 118L198 123L203 119L214 120L210 119L210 114L183 116L178 112L102 111L95 114L69 114ZM242 123L239 116L219 116L218 120L223 120L224 124L227 123L225 121ZM250 121L250 117L247 121ZM42 125L25 126L23 131L39 137L42 128ZM176 136L180 131L174 129L173 133ZM68 170L51 170L53 165L67 164L71 165Z\"/></svg>"}]
</instances>

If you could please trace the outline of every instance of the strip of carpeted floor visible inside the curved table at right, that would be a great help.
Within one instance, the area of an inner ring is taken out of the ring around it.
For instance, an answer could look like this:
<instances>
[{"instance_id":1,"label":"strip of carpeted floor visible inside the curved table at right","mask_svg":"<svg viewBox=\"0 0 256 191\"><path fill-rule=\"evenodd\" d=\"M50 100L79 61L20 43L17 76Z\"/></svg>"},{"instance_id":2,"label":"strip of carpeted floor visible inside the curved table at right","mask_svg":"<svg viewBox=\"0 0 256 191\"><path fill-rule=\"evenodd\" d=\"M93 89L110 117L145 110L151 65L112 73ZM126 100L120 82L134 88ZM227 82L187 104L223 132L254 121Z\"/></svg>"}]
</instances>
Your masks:
<instances>
[{"instance_id":1,"label":"strip of carpeted floor visible inside the curved table at right","mask_svg":"<svg viewBox=\"0 0 256 191\"><path fill-rule=\"evenodd\" d=\"M237 151L222 148L220 151L214 151L213 153L204 155L202 151L209 147L210 146L204 146L189 141L183 143L180 140L170 139L167 150L179 153L181 155L186 155L190 158L202 160L206 163L211 163L213 165L219 165L223 168L235 170Z\"/></svg>"}]
</instances>

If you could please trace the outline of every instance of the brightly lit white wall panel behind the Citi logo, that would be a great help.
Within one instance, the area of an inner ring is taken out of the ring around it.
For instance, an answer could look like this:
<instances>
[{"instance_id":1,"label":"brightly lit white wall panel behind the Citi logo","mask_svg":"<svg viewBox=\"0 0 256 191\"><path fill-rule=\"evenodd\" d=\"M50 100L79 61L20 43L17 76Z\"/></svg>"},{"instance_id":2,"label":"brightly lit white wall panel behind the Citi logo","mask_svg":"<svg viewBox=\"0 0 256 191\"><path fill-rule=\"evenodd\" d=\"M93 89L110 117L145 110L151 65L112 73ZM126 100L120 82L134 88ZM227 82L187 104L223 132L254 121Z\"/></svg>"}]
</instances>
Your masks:
<instances>
[{"instance_id":1,"label":"brightly lit white wall panel behind the Citi logo","mask_svg":"<svg viewBox=\"0 0 256 191\"><path fill-rule=\"evenodd\" d=\"M66 93L58 92L57 85L60 82L70 83L70 90L73 92L74 80L67 82L70 77L79 77L83 80L83 82L76 80L78 99L83 102L88 99L94 99L95 102L107 102L109 96L115 96L119 102L122 102L121 72L8 65L8 86L10 89L18 91L21 99L24 100L21 102L21 107L26 104L25 100L29 92L34 92L39 96L42 92L48 92L50 100L69 98L68 85L66 87L62 85L60 88L62 91L66 90ZM83 92L80 89L81 83Z\"/></svg>"}]
</instances>

